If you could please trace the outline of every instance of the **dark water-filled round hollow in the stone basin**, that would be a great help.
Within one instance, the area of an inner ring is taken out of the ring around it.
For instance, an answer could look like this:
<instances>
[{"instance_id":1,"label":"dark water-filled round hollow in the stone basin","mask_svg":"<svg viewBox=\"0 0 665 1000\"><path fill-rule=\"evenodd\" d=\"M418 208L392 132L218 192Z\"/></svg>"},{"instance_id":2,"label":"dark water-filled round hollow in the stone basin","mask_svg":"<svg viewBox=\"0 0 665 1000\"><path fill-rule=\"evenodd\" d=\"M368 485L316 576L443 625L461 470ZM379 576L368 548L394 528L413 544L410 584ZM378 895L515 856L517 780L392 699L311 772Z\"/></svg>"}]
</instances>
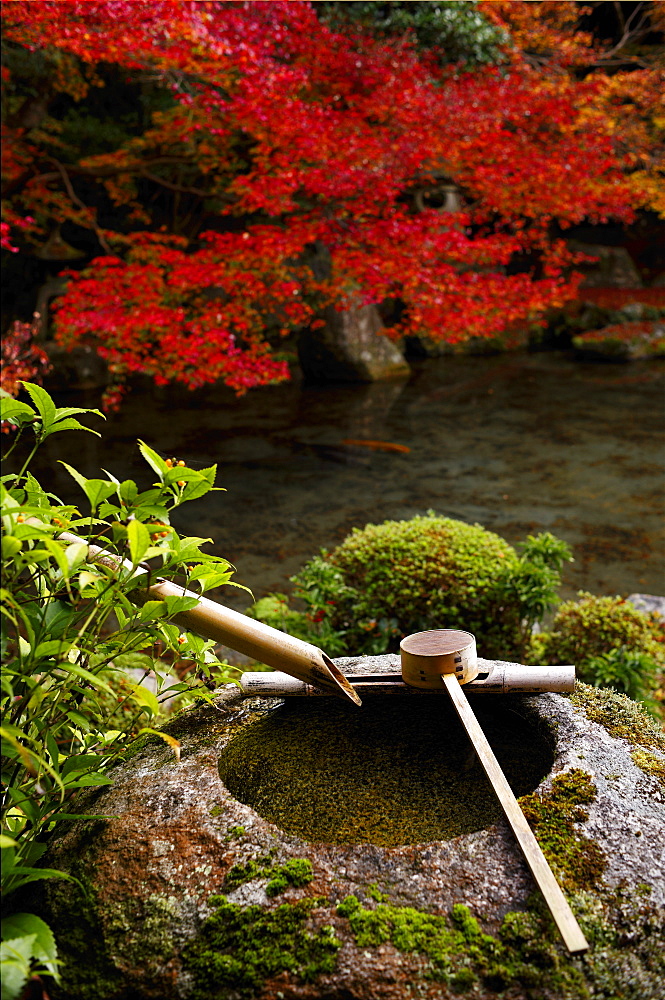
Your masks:
<instances>
[{"instance_id":1,"label":"dark water-filled round hollow in the stone basin","mask_svg":"<svg viewBox=\"0 0 665 1000\"><path fill-rule=\"evenodd\" d=\"M473 709L516 796L552 769L553 740L519 697ZM450 840L503 815L445 694L287 701L224 748L231 794L309 842L398 847Z\"/></svg>"}]
</instances>

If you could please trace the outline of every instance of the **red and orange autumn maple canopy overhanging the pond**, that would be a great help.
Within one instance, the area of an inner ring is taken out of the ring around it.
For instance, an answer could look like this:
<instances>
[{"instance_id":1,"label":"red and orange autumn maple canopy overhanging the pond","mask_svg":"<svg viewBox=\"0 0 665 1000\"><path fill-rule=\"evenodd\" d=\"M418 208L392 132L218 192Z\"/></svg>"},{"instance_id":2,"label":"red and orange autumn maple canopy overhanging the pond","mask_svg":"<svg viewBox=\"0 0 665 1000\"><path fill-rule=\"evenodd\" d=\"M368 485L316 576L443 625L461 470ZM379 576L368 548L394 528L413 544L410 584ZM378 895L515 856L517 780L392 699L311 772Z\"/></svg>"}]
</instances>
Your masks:
<instances>
[{"instance_id":1,"label":"red and orange autumn maple canopy overhanging the pond","mask_svg":"<svg viewBox=\"0 0 665 1000\"><path fill-rule=\"evenodd\" d=\"M286 378L330 302L451 343L537 321L578 280L561 232L657 197L659 71L580 10L5 0L3 245L85 236L58 336L119 383Z\"/></svg>"}]
</instances>

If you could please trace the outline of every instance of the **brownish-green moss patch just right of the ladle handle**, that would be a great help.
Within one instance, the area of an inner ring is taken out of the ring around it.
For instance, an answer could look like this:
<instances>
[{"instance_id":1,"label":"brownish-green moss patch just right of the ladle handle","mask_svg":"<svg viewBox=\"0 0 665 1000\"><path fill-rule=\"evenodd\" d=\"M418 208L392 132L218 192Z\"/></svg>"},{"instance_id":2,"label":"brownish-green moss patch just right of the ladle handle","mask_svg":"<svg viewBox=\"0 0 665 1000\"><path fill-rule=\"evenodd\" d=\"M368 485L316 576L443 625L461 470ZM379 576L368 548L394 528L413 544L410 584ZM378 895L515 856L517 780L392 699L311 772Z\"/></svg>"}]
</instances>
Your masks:
<instances>
[{"instance_id":1,"label":"brownish-green moss patch just right of the ladle handle","mask_svg":"<svg viewBox=\"0 0 665 1000\"><path fill-rule=\"evenodd\" d=\"M525 795L522 811L543 854L564 888L588 889L602 877L607 861L595 843L580 833L576 823L588 819L583 808L596 797L591 778L582 770L565 771L547 792Z\"/></svg>"}]
</instances>

